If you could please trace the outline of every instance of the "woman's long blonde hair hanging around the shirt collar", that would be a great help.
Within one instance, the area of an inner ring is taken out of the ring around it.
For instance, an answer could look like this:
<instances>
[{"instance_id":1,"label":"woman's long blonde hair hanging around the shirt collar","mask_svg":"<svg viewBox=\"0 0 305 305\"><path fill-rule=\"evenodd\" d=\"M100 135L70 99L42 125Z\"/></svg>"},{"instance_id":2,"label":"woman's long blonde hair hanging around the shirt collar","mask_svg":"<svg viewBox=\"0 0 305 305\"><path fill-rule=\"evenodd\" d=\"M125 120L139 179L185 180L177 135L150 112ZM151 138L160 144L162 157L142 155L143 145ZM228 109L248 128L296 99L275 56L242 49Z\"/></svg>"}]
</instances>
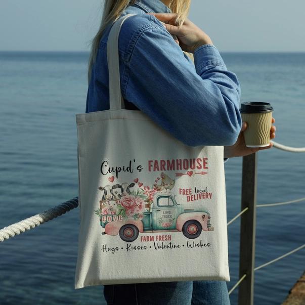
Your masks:
<instances>
[{"instance_id":1,"label":"woman's long blonde hair hanging around the shirt collar","mask_svg":"<svg viewBox=\"0 0 305 305\"><path fill-rule=\"evenodd\" d=\"M100 28L92 40L91 53L88 63L88 81L90 82L92 67L96 60L100 40L103 32L109 22L115 22L121 15L121 13L132 5L136 0L105 0L102 22ZM161 0L160 0L161 1ZM169 8L172 13L178 14L175 21L176 26L180 26L184 23L186 17L189 14L191 0L171 0Z\"/></svg>"}]
</instances>

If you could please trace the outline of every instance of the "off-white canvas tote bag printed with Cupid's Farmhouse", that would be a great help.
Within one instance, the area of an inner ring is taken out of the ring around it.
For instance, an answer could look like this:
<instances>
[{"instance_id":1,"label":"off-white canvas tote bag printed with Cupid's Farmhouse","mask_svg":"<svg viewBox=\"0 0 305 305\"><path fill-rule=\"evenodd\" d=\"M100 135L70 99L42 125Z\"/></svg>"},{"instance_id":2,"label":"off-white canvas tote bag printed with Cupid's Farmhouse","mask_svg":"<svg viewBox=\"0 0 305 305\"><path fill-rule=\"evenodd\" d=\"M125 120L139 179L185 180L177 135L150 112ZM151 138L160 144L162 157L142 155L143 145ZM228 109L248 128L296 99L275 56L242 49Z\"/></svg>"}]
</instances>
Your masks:
<instances>
[{"instance_id":1,"label":"off-white canvas tote bag printed with Cupid's Farmhouse","mask_svg":"<svg viewBox=\"0 0 305 305\"><path fill-rule=\"evenodd\" d=\"M120 17L108 38L110 109L76 114L75 289L229 281L224 147L187 146L143 112L124 109L118 35L133 15Z\"/></svg>"}]
</instances>

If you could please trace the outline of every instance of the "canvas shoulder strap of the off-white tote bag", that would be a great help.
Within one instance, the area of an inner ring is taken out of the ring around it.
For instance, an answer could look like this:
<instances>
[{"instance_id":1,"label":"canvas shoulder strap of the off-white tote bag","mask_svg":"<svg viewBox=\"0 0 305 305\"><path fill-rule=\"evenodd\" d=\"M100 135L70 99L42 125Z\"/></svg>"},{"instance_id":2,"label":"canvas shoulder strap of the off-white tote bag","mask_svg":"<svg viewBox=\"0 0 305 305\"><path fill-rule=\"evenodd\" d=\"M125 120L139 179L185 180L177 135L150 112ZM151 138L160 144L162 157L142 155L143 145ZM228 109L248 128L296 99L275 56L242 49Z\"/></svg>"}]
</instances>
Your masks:
<instances>
[{"instance_id":1,"label":"canvas shoulder strap of the off-white tote bag","mask_svg":"<svg viewBox=\"0 0 305 305\"><path fill-rule=\"evenodd\" d=\"M107 41L107 63L109 70L109 104L110 109L125 109L124 99L121 93L118 36L123 22L130 16L120 17L111 27Z\"/></svg>"}]
</instances>

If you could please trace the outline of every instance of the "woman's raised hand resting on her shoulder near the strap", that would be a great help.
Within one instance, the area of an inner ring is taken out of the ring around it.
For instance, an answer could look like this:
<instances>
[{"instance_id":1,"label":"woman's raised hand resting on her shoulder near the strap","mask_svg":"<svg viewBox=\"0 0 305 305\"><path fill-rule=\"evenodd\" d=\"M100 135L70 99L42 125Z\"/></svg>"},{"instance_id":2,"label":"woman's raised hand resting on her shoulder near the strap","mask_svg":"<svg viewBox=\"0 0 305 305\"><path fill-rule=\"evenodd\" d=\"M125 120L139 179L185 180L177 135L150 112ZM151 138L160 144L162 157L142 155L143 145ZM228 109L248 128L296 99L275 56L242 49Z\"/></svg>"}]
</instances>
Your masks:
<instances>
[{"instance_id":1,"label":"woman's raised hand resting on her shoulder near the strap","mask_svg":"<svg viewBox=\"0 0 305 305\"><path fill-rule=\"evenodd\" d=\"M165 28L170 34L177 36L179 45L183 51L194 53L194 51L200 46L213 44L211 38L188 18L186 18L184 23L178 27L175 25L175 20L178 16L176 13L147 14L155 16L158 20L163 22Z\"/></svg>"}]
</instances>

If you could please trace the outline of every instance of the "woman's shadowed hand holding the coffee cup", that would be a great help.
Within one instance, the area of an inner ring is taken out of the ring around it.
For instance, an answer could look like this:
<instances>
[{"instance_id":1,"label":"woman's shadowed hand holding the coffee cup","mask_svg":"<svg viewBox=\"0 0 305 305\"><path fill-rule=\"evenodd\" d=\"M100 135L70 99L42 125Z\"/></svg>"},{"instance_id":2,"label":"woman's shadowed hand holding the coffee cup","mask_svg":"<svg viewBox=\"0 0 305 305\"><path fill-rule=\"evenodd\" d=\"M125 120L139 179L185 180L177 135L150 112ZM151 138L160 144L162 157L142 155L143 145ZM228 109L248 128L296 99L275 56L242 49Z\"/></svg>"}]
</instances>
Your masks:
<instances>
[{"instance_id":1,"label":"woman's shadowed hand holding the coffee cup","mask_svg":"<svg viewBox=\"0 0 305 305\"><path fill-rule=\"evenodd\" d=\"M272 118L271 122L272 123L275 122L274 117ZM273 144L270 143L270 145L266 146L266 147L247 147L246 143L245 143L244 133L243 133L246 128L247 128L247 122L243 122L241 132L238 136L236 143L232 146L224 147L224 158L243 157L246 155L250 155L254 152L257 152L259 150L269 149L273 146ZM275 138L275 130L276 130L276 127L274 125L272 125L271 129L270 129L270 139Z\"/></svg>"}]
</instances>

